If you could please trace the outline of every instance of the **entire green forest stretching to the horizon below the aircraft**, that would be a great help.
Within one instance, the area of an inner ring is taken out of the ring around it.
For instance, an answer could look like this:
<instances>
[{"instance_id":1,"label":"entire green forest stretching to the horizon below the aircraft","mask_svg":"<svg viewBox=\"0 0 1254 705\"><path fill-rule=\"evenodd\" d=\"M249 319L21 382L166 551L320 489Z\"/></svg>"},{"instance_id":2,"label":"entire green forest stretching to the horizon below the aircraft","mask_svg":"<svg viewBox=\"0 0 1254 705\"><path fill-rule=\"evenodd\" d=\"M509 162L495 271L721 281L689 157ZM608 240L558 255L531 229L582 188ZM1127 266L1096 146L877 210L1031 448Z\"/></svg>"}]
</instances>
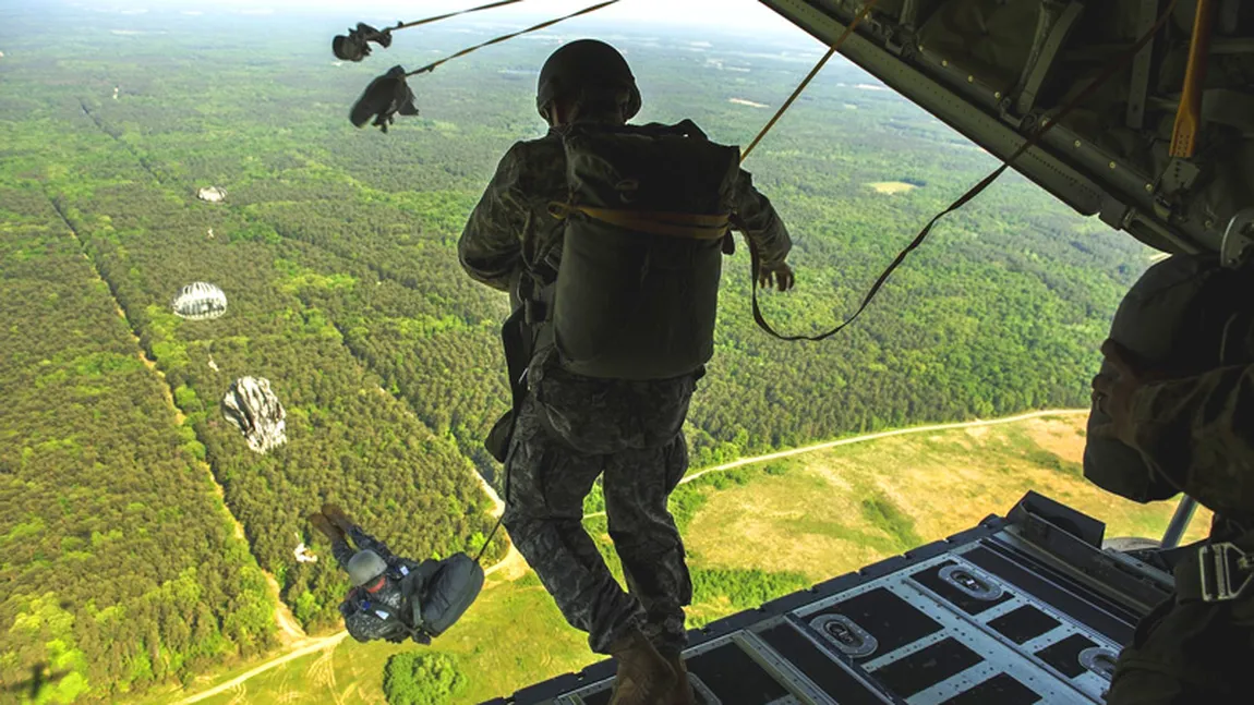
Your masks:
<instances>
[{"instance_id":1,"label":"entire green forest stretching to the horizon below the aircraft","mask_svg":"<svg viewBox=\"0 0 1254 705\"><path fill-rule=\"evenodd\" d=\"M344 21L0 9L6 686L46 679L39 701L112 701L242 664L277 644L267 574L306 631L337 629L346 577L305 520L325 501L400 553L483 546L494 520L474 473L502 487L482 438L508 406L508 301L464 275L455 244L500 155L542 134L543 59L606 36L641 83L638 121L692 118L744 144L770 115L752 104L779 105L819 54L808 38L749 51L692 28L581 20L415 79L423 115L384 135L346 118L366 83L492 28L436 25L340 65ZM764 294L767 318L805 333L851 313L994 165L859 69L830 66L746 164L795 242L798 289ZM747 252L727 259L686 428L693 467L1085 404L1110 316L1151 253L1004 180L823 343L759 331ZM197 199L211 185L223 203ZM221 287L227 314L174 316L192 282ZM218 407L243 376L268 378L286 408L288 441L267 455ZM317 562L295 560L301 542ZM498 535L485 560L504 551ZM701 589L747 606L757 595L736 575Z\"/></svg>"}]
</instances>

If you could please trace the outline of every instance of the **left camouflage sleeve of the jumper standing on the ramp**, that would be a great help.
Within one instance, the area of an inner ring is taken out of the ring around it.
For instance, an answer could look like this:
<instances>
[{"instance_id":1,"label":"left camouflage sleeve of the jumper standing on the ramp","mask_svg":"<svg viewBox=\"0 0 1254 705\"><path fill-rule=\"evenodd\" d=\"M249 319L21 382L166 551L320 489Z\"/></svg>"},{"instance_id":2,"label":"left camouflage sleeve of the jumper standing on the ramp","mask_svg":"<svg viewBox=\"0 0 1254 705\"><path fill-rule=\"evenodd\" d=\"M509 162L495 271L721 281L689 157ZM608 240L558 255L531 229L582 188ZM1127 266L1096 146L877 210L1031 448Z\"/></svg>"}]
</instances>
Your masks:
<instances>
[{"instance_id":1,"label":"left camouflage sleeve of the jumper standing on the ramp","mask_svg":"<svg viewBox=\"0 0 1254 705\"><path fill-rule=\"evenodd\" d=\"M528 208L518 184L522 150L522 144L515 144L502 158L458 242L461 268L474 280L503 292L509 291L510 277L523 265Z\"/></svg>"}]
</instances>

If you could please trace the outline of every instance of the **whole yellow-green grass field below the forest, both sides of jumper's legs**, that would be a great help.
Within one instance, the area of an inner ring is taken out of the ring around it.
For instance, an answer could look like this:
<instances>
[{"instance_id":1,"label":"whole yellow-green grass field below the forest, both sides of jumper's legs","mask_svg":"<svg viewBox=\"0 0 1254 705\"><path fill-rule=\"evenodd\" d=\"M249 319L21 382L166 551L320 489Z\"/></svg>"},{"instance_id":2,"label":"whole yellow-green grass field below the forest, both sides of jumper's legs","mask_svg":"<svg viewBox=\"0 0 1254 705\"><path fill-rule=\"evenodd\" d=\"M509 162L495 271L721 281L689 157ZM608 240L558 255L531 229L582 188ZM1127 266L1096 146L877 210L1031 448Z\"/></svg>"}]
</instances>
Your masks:
<instances>
[{"instance_id":1,"label":"whole yellow-green grass field below the forest, both sides of jumper's legs","mask_svg":"<svg viewBox=\"0 0 1254 705\"><path fill-rule=\"evenodd\" d=\"M1046 417L883 438L702 476L672 497L697 582L690 617L719 619L969 528L989 513L1004 515L1028 490L1106 521L1109 537L1160 536L1174 505L1141 506L1088 485L1082 452L1083 417ZM1189 540L1204 533L1204 515ZM608 540L603 517L588 527ZM202 702L381 704L387 657L410 647L346 640ZM466 702L596 660L523 570L489 577L475 607L435 649L454 655L469 676Z\"/></svg>"}]
</instances>

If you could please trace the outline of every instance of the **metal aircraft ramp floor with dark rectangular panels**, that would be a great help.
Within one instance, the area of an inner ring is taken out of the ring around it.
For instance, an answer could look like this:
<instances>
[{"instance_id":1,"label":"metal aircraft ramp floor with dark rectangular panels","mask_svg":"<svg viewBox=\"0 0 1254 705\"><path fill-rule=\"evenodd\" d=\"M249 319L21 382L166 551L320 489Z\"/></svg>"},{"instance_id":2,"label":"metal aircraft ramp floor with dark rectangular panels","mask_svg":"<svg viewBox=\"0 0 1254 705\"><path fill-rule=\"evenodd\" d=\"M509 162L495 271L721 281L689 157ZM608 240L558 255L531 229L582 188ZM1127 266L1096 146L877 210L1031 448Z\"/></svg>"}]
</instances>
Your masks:
<instances>
[{"instance_id":1,"label":"metal aircraft ramp floor with dark rectangular panels","mask_svg":"<svg viewBox=\"0 0 1254 705\"><path fill-rule=\"evenodd\" d=\"M1007 518L691 632L705 705L1102 702L1171 577L1036 493ZM488 705L604 705L603 661Z\"/></svg>"}]
</instances>

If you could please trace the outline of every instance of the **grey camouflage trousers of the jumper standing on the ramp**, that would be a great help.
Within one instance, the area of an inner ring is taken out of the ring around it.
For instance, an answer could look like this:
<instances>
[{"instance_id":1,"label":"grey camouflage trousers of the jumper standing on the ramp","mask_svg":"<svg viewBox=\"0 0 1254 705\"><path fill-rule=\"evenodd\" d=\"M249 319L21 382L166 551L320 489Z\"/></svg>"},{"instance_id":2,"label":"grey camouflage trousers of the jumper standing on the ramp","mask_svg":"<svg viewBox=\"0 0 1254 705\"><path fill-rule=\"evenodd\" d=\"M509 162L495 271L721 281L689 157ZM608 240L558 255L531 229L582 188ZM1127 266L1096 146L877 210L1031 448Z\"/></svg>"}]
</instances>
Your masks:
<instances>
[{"instance_id":1,"label":"grey camouflage trousers of the jumper standing on the ramp","mask_svg":"<svg viewBox=\"0 0 1254 705\"><path fill-rule=\"evenodd\" d=\"M677 654L692 581L666 503L687 471L682 425L696 377L623 382L545 367L532 368L505 460L505 528L593 651L608 654L637 626ZM583 528L583 500L598 477L630 592Z\"/></svg>"}]
</instances>

